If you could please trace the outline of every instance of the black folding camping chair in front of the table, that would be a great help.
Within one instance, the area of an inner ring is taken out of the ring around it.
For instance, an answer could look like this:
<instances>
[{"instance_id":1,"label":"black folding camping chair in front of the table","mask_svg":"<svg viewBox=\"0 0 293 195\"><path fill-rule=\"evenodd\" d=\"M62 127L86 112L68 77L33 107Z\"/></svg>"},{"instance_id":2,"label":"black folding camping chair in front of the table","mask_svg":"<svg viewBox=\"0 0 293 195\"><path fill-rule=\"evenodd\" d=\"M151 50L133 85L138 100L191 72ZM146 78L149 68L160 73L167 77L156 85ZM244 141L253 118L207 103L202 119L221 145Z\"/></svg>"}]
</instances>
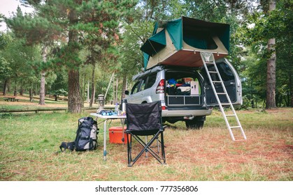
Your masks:
<instances>
[{"instance_id":1,"label":"black folding camping chair in front of the table","mask_svg":"<svg viewBox=\"0 0 293 195\"><path fill-rule=\"evenodd\" d=\"M128 166L133 166L139 157L145 152L149 152L161 164L165 164L166 157L164 151L164 127L162 126L162 106L161 101L145 104L126 104L127 116L127 155ZM141 137L152 136L150 141L143 141ZM141 143L143 149L134 159L132 153L132 137ZM161 140L159 141L159 137ZM152 150L152 143L157 140L157 149ZM161 151L159 151L161 145Z\"/></svg>"}]
</instances>

